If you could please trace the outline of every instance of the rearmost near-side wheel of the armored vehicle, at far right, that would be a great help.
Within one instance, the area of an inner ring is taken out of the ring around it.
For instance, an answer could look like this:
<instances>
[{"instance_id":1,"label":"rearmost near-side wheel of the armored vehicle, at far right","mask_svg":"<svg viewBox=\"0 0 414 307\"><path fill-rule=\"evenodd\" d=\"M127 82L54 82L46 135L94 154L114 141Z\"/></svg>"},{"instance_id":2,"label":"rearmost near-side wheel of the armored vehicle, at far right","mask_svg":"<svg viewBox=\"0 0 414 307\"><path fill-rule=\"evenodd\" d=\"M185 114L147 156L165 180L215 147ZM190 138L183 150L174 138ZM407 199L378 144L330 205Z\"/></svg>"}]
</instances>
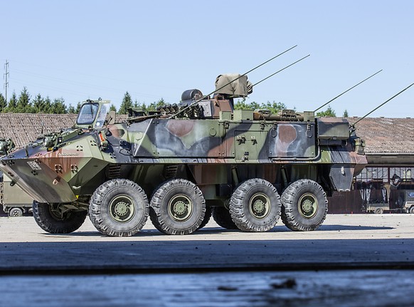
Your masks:
<instances>
[{"instance_id":1,"label":"rearmost near-side wheel of the armored vehicle, at far right","mask_svg":"<svg viewBox=\"0 0 414 307\"><path fill-rule=\"evenodd\" d=\"M289 229L315 230L322 225L327 213L327 194L313 180L297 180L282 193L282 222Z\"/></svg>"}]
</instances>

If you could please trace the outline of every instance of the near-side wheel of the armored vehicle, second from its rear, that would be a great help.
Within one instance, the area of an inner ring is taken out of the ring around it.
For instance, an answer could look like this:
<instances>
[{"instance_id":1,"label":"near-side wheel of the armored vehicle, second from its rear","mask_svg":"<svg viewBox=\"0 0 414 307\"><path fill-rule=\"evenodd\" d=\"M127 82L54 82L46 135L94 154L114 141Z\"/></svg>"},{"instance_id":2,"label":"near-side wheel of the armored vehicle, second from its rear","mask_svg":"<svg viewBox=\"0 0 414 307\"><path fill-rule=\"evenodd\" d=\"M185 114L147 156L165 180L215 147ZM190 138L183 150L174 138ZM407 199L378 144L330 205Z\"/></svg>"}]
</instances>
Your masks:
<instances>
[{"instance_id":1,"label":"near-side wheel of the armored vehicle, second from its rear","mask_svg":"<svg viewBox=\"0 0 414 307\"><path fill-rule=\"evenodd\" d=\"M248 179L230 198L230 215L241 231L268 231L280 217L280 196L265 179Z\"/></svg>"}]
</instances>

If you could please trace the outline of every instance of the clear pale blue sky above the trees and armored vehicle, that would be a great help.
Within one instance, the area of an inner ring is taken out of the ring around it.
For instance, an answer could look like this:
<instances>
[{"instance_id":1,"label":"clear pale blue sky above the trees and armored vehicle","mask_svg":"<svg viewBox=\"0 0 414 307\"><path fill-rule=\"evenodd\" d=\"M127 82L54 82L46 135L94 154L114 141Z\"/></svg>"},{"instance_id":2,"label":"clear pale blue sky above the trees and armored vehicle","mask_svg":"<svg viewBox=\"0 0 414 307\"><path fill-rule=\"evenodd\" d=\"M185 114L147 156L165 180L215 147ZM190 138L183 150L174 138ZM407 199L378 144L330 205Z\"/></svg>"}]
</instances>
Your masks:
<instances>
[{"instance_id":1,"label":"clear pale blue sky above the trees and armored vehicle","mask_svg":"<svg viewBox=\"0 0 414 307\"><path fill-rule=\"evenodd\" d=\"M414 83L414 1L1 1L0 63L9 61L9 97L26 86L76 105L176 103L184 90L214 90L221 73L253 83L248 102L282 102L362 116ZM4 83L4 80L1 80ZM4 94L4 87L0 88ZM414 87L371 117L414 118Z\"/></svg>"}]
</instances>

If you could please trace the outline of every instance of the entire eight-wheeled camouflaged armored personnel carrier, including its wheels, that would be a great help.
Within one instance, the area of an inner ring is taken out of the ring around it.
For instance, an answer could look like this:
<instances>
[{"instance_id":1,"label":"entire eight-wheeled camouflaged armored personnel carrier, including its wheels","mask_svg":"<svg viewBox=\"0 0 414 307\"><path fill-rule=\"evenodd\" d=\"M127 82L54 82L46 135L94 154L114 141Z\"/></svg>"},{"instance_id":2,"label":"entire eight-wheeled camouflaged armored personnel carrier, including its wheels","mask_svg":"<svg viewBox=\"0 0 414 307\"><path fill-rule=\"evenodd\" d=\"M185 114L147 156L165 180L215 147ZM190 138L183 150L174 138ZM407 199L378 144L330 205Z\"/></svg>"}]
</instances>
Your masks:
<instances>
[{"instance_id":1,"label":"entire eight-wheeled camouflaged armored personnel carrier, including its wheels","mask_svg":"<svg viewBox=\"0 0 414 307\"><path fill-rule=\"evenodd\" d=\"M351 188L366 165L363 141L341 118L282 110L234 110L252 90L247 76L222 75L216 92L186 90L156 112L87 100L75 126L5 155L0 168L33 197L50 233L70 233L89 214L98 231L132 236L147 218L164 234L191 234L211 215L222 227L268 231L280 217L317 229L327 195Z\"/></svg>"}]
</instances>

